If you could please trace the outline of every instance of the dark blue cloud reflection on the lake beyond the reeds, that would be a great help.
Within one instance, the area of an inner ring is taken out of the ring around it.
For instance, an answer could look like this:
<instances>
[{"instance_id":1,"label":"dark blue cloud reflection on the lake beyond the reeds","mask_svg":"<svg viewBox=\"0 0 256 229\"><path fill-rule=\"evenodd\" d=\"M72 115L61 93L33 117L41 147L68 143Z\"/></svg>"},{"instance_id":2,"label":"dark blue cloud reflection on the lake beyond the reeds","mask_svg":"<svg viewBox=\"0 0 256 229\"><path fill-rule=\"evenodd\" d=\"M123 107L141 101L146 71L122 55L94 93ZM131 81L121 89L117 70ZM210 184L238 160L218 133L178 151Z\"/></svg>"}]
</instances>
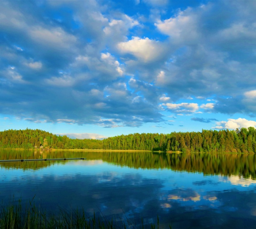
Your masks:
<instances>
[{"instance_id":1,"label":"dark blue cloud reflection on the lake beyond the reeds","mask_svg":"<svg viewBox=\"0 0 256 229\"><path fill-rule=\"evenodd\" d=\"M145 224L156 223L157 216L162 228L167 228L170 222L174 228L241 228L242 222L245 228L253 228L256 224L255 190L220 191L221 185L209 185L207 192L202 190L205 186L198 185L172 189L169 180L148 179L146 170L130 169L127 173L121 167L116 171L116 167L108 166L99 171L98 166L90 172L77 166L76 173L73 166L67 166L62 175L45 169L43 174L33 171L24 179L5 180L0 186L0 200L7 200L7 193L23 201L31 200L35 194L34 202L49 211L83 207L88 215L95 212L96 216L102 214L110 219L124 219L126 215L137 226L142 218ZM179 176L174 179L181 186Z\"/></svg>"}]
</instances>

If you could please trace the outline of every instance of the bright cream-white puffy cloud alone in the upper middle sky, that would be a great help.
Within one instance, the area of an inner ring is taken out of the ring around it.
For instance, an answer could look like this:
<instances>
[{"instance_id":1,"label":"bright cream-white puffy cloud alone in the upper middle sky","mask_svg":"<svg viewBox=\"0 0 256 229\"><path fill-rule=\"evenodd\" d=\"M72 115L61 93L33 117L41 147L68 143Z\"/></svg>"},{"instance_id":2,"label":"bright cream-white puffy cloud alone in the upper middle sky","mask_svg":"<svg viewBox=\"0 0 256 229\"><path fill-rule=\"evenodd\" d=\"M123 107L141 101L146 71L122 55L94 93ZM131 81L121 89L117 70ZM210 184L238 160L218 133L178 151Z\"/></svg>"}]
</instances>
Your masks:
<instances>
[{"instance_id":1,"label":"bright cream-white puffy cloud alone in the upper middle sky","mask_svg":"<svg viewBox=\"0 0 256 229\"><path fill-rule=\"evenodd\" d=\"M152 62L160 58L163 53L163 46L158 41L150 40L148 37L144 39L133 37L130 41L118 43L117 48L121 53L133 54L142 62Z\"/></svg>"}]
</instances>

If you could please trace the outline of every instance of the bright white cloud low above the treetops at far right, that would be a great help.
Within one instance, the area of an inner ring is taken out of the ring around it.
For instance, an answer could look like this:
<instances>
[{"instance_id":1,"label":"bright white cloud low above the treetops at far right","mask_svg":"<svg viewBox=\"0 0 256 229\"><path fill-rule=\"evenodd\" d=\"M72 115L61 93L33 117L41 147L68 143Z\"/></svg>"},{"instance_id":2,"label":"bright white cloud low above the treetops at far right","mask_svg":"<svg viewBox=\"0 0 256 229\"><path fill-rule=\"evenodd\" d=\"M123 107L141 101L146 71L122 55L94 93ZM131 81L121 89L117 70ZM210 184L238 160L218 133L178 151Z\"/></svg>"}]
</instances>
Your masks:
<instances>
[{"instance_id":1,"label":"bright white cloud low above the treetops at far right","mask_svg":"<svg viewBox=\"0 0 256 229\"><path fill-rule=\"evenodd\" d=\"M216 122L215 129L230 129L236 130L236 128L248 128L253 126L256 127L256 122L253 120L247 120L245 118L232 119L228 118L228 121Z\"/></svg>"}]
</instances>

